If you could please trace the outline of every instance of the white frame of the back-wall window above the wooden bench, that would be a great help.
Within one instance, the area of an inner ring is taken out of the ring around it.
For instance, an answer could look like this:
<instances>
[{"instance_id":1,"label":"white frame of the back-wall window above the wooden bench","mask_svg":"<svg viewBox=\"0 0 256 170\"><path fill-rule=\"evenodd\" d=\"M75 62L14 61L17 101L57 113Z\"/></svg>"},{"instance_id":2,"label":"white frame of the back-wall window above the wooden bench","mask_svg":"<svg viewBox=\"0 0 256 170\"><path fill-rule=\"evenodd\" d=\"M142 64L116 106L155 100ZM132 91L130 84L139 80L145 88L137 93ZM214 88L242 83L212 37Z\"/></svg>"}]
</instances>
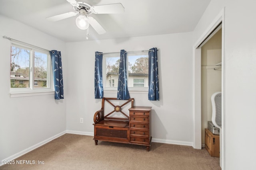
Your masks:
<instances>
[{"instance_id":1,"label":"white frame of the back-wall window above the wooden bench","mask_svg":"<svg viewBox=\"0 0 256 170\"><path fill-rule=\"evenodd\" d=\"M138 52L138 51L135 51L135 52L129 52L129 53L127 53L127 60L126 60L126 66L127 66L127 68L126 68L126 70L127 70L127 72L126 72L126 75L127 75L127 84L128 84L128 90L129 90L129 92L135 92L135 93L138 93L138 92L142 92L142 93L147 93L148 92L148 86L145 86L145 84L146 84L146 79L145 78L136 78L136 79L144 79L144 87L131 87L131 86L129 86L129 65L128 65L128 63L129 63L129 56L130 55L147 55L148 56L148 52L147 51L141 51L141 52ZM109 84L109 82L107 82L106 81L106 58L107 57L119 57L120 58L120 54L117 54L117 53L108 53L108 54L104 54L103 53L103 56L102 56L102 82L103 82L103 91L104 92L111 92L111 91L114 91L114 92L116 92L116 90L117 90L117 87L106 87L106 83L108 83ZM132 81L132 84L133 84L133 78L132 78L132 80L130 80L130 81ZM112 84L112 83L111 83Z\"/></svg>"}]
</instances>

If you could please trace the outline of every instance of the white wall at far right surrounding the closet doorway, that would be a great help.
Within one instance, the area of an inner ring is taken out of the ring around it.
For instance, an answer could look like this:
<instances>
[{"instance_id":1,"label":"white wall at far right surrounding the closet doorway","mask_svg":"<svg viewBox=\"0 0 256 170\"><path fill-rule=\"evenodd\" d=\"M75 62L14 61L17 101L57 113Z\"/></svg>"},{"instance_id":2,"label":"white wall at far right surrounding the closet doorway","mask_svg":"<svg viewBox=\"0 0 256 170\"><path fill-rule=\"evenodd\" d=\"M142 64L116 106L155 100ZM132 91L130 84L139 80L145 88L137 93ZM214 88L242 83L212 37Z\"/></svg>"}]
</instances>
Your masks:
<instances>
[{"instance_id":1,"label":"white wall at far right surrounding the closet doorway","mask_svg":"<svg viewBox=\"0 0 256 170\"><path fill-rule=\"evenodd\" d=\"M196 43L214 18L224 12L224 166L225 170L256 167L256 2L211 1L193 33Z\"/></svg>"}]
</instances>

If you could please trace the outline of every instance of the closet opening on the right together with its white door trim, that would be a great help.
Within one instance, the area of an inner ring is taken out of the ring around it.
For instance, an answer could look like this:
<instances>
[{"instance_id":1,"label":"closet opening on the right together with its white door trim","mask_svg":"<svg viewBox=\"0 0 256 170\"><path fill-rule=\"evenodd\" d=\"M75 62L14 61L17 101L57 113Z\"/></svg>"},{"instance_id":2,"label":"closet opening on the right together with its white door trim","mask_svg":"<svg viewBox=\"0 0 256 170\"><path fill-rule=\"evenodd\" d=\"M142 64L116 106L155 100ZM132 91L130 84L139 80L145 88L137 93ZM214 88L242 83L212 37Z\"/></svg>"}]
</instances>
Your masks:
<instances>
[{"instance_id":1,"label":"closet opening on the right together with its white door trim","mask_svg":"<svg viewBox=\"0 0 256 170\"><path fill-rule=\"evenodd\" d=\"M224 28L223 28L223 15L224 11L219 14L212 22L201 39L194 46L194 148L202 149L206 147L205 142L206 129L208 123L212 122L212 96L216 92L220 92L220 108L221 123L223 121L224 105ZM216 123L216 122L214 122ZM221 125L223 127L223 125ZM220 167L223 166L224 150L223 128L220 127L219 131L219 157ZM218 155L217 155L218 157Z\"/></svg>"}]
</instances>

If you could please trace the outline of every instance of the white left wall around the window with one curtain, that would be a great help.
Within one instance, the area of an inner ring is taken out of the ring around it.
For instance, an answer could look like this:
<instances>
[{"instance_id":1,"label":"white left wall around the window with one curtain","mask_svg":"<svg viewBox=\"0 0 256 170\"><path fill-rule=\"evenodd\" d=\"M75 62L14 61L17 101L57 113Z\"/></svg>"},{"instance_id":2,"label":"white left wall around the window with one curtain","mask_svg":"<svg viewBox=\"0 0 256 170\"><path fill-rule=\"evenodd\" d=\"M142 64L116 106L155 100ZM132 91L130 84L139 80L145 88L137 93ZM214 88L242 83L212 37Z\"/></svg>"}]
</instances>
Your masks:
<instances>
[{"instance_id":1,"label":"white left wall around the window with one curtain","mask_svg":"<svg viewBox=\"0 0 256 170\"><path fill-rule=\"evenodd\" d=\"M10 41L4 35L63 54L65 43L0 15L0 160L11 160L66 130L66 100L56 101L54 94L10 98ZM64 76L65 57L62 55Z\"/></svg>"}]
</instances>

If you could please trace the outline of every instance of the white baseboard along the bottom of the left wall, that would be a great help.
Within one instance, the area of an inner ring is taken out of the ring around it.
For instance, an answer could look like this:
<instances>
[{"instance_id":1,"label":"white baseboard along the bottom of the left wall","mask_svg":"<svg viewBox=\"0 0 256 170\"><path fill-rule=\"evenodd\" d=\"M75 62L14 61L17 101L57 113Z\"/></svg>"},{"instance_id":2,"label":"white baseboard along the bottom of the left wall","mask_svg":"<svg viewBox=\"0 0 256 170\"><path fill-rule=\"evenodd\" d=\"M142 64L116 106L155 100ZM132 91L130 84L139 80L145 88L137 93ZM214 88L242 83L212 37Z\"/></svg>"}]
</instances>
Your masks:
<instances>
[{"instance_id":1,"label":"white baseboard along the bottom of the left wall","mask_svg":"<svg viewBox=\"0 0 256 170\"><path fill-rule=\"evenodd\" d=\"M0 166L4 165L4 162L10 161L10 160L14 160L14 159L16 159L16 158L18 158L18 157L20 157L20 156L22 156L22 155L24 155L24 154L26 154L26 153L32 151L32 150L34 150L34 149L36 149L36 148L38 148L38 147L40 147L40 146L42 146L42 145L44 145L44 144L46 144L46 143L48 143L48 142L50 142L50 141L56 139L56 138L58 138L58 137L64 135L65 133L66 133L66 131L63 131L63 132L61 132L61 133L58 133L57 135L54 135L53 137L50 137L50 138L48 138L48 139L46 139L46 140L44 140L44 141L42 141L42 142L40 142L40 143L37 143L36 145L33 145L32 147L29 147L29 148L27 148L27 149L24 149L24 150L22 150L22 151L20 151L20 152L18 152L18 153L16 153L16 154L14 154L14 155L12 155L12 156L6 158L6 159L4 159L4 160L1 160Z\"/></svg>"}]
</instances>

